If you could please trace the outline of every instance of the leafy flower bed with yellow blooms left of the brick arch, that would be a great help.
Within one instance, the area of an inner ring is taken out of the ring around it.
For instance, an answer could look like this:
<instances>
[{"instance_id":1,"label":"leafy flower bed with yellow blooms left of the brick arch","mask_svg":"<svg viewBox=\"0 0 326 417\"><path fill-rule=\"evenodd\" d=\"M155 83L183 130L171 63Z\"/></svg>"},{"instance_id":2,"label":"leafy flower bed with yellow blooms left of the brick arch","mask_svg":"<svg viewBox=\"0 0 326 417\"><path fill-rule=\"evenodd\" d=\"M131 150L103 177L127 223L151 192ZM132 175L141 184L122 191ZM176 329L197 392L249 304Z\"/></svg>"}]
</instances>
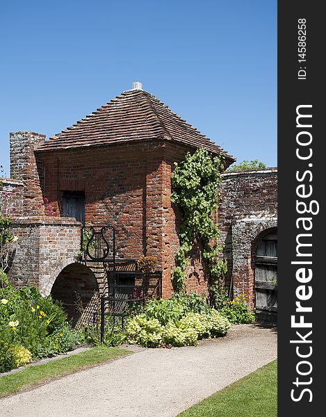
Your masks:
<instances>
[{"instance_id":1,"label":"leafy flower bed with yellow blooms left of the brick arch","mask_svg":"<svg viewBox=\"0 0 326 417\"><path fill-rule=\"evenodd\" d=\"M0 349L0 362L14 363L15 368L28 352L33 359L49 357L81 342L80 332L72 331L62 306L51 296L42 297L34 286L14 288L3 272L1 275L0 343L10 347L14 362L4 348Z\"/></svg>"}]
</instances>

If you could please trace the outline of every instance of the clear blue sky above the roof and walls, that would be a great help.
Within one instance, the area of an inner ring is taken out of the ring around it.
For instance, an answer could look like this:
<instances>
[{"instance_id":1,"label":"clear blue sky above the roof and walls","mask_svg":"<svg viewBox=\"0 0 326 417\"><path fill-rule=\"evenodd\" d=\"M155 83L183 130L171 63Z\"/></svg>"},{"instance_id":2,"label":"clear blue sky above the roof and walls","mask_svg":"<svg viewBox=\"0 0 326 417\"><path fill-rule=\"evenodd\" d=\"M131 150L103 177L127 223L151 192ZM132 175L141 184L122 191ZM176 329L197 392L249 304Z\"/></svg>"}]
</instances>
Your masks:
<instances>
[{"instance_id":1,"label":"clear blue sky above the roof and walls","mask_svg":"<svg viewBox=\"0 0 326 417\"><path fill-rule=\"evenodd\" d=\"M133 81L238 161L277 165L277 1L13 0L0 15L0 163Z\"/></svg>"}]
</instances>

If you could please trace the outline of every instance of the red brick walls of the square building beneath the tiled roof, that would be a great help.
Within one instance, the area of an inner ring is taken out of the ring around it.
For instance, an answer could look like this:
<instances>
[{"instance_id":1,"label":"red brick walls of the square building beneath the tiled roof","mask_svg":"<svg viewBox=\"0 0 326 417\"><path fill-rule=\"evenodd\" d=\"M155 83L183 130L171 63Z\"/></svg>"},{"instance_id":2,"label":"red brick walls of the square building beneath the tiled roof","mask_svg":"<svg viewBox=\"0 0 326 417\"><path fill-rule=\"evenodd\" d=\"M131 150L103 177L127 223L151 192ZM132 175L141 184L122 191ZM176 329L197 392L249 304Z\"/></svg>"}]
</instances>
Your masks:
<instances>
[{"instance_id":1,"label":"red brick walls of the square building beneath the tiled roof","mask_svg":"<svg viewBox=\"0 0 326 417\"><path fill-rule=\"evenodd\" d=\"M171 205L170 176L174 161L181 161L187 150L153 141L37 152L43 193L62 214L63 191L84 191L86 224L113 224L121 259L156 256L163 271L163 296L168 297L180 227L180 215ZM188 290L206 292L197 253L188 273Z\"/></svg>"}]
</instances>

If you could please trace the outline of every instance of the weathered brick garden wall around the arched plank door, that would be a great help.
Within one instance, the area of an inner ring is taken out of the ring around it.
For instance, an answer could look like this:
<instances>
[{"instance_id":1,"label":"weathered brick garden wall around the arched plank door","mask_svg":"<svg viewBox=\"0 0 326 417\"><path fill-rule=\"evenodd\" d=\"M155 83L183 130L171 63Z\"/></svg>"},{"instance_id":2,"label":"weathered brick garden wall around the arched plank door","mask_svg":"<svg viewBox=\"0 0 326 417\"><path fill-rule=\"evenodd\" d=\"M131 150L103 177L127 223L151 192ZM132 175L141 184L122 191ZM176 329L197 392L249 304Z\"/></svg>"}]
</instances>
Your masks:
<instances>
[{"instance_id":1,"label":"weathered brick garden wall around the arched plank door","mask_svg":"<svg viewBox=\"0 0 326 417\"><path fill-rule=\"evenodd\" d=\"M228 261L227 287L254 300L252 251L262 233L277 227L277 169L223 174L218 225Z\"/></svg>"}]
</instances>

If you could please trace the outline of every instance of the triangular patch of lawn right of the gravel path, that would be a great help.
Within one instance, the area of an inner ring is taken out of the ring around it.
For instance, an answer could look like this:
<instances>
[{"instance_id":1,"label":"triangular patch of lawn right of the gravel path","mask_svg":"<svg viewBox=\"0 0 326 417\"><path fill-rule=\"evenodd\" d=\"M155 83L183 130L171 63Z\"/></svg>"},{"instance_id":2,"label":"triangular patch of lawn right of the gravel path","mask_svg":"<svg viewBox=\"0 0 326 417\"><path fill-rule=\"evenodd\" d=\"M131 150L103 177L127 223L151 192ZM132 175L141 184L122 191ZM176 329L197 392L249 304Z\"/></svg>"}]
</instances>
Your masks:
<instances>
[{"instance_id":1,"label":"triangular patch of lawn right of the gravel path","mask_svg":"<svg viewBox=\"0 0 326 417\"><path fill-rule=\"evenodd\" d=\"M277 361L247 375L179 414L179 417L276 417Z\"/></svg>"}]
</instances>

